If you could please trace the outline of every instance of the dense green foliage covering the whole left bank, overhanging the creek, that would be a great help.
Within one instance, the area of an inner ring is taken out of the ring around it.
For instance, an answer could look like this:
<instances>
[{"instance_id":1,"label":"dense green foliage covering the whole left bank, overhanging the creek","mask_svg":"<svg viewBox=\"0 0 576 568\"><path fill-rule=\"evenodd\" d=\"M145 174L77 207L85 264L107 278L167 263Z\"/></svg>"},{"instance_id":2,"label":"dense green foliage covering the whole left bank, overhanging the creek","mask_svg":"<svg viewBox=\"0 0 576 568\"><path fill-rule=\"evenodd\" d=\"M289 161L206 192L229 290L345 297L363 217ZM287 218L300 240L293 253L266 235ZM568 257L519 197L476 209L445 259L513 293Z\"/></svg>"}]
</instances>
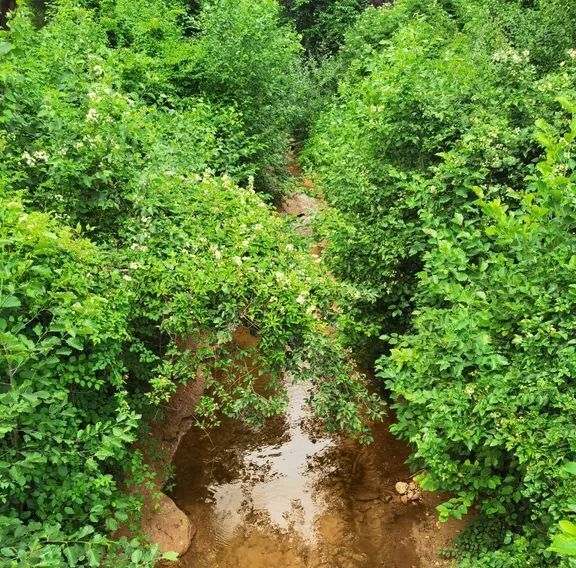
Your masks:
<instances>
[{"instance_id":1,"label":"dense green foliage covering the whole left bank, overhanging the creek","mask_svg":"<svg viewBox=\"0 0 576 568\"><path fill-rule=\"evenodd\" d=\"M137 519L142 416L199 369L199 420L281 411L286 372L331 429L378 413L330 332L335 283L252 187L303 88L278 18L62 0L2 32L0 566L149 565L105 535ZM241 325L265 393L233 374Z\"/></svg>"}]
</instances>

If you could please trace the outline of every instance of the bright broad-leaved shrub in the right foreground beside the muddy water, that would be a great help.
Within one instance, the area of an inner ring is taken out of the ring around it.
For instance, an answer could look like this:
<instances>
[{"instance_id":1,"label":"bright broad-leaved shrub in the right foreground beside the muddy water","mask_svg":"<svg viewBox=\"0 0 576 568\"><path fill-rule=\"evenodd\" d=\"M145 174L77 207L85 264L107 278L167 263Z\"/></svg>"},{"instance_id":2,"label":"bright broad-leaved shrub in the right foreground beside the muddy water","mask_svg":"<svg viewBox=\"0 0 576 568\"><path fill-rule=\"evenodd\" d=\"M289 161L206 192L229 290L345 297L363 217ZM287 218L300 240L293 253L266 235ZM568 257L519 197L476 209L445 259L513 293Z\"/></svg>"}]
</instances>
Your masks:
<instances>
[{"instance_id":1,"label":"bright broad-leaved shrub in the right foreground beside the muddy water","mask_svg":"<svg viewBox=\"0 0 576 568\"><path fill-rule=\"evenodd\" d=\"M547 160L516 207L478 190L427 230L414 331L379 363L423 486L455 496L441 516L474 505L545 535L574 492L574 127L540 136Z\"/></svg>"}]
</instances>

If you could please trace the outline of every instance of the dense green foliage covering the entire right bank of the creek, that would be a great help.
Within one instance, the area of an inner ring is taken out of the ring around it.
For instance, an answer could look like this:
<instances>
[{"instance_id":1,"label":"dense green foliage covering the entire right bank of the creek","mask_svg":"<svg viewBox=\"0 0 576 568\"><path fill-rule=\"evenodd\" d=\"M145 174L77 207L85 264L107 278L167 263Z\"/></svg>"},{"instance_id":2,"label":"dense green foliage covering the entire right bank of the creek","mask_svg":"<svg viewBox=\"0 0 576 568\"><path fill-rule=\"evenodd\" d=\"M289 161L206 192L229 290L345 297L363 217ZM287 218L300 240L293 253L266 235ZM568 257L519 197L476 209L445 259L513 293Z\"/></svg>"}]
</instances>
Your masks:
<instances>
[{"instance_id":1,"label":"dense green foliage covering the entire right bank of the creek","mask_svg":"<svg viewBox=\"0 0 576 568\"><path fill-rule=\"evenodd\" d=\"M504 527L466 566L557 565L575 490L573 11L367 10L306 151L326 258L356 288L349 337L379 356L421 482L452 492L441 517Z\"/></svg>"}]
</instances>

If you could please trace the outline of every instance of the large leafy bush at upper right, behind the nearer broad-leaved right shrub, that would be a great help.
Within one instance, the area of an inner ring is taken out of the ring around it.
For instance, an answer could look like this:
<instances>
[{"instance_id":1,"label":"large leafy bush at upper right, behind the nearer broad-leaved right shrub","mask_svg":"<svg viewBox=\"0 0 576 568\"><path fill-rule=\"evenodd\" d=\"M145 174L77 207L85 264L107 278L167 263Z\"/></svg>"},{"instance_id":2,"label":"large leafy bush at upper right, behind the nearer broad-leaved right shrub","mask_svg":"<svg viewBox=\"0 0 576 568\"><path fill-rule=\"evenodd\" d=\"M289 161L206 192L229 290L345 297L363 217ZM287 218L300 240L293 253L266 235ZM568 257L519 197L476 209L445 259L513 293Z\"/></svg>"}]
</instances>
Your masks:
<instances>
[{"instance_id":1,"label":"large leafy bush at upper right, behind the nearer broad-leaved right shrub","mask_svg":"<svg viewBox=\"0 0 576 568\"><path fill-rule=\"evenodd\" d=\"M358 56L305 156L336 209L327 256L361 292L361 335L409 325L427 247L419 212L450 219L470 184L505 195L538 155L534 120L557 121L553 99L572 88L572 64L538 82L497 29L463 34L439 4L417 5L369 10L348 34L341 57Z\"/></svg>"}]
</instances>

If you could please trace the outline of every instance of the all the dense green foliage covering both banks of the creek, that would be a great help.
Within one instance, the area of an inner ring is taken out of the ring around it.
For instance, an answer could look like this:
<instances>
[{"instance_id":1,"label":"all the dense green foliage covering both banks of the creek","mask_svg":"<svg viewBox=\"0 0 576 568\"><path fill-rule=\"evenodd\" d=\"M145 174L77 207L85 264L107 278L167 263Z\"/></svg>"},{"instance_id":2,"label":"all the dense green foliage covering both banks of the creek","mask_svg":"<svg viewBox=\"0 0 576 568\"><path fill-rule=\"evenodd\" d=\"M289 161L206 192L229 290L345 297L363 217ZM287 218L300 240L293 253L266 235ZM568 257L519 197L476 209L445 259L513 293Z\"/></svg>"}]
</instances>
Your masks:
<instances>
[{"instance_id":1,"label":"all the dense green foliage covering both banks of the creek","mask_svg":"<svg viewBox=\"0 0 576 568\"><path fill-rule=\"evenodd\" d=\"M0 32L0 566L150 565L110 536L132 444L199 372L199 421L258 424L288 373L365 437L338 325L440 517L476 512L447 554L574 565L576 3L381 4L57 0ZM344 287L266 203L309 127Z\"/></svg>"}]
</instances>

